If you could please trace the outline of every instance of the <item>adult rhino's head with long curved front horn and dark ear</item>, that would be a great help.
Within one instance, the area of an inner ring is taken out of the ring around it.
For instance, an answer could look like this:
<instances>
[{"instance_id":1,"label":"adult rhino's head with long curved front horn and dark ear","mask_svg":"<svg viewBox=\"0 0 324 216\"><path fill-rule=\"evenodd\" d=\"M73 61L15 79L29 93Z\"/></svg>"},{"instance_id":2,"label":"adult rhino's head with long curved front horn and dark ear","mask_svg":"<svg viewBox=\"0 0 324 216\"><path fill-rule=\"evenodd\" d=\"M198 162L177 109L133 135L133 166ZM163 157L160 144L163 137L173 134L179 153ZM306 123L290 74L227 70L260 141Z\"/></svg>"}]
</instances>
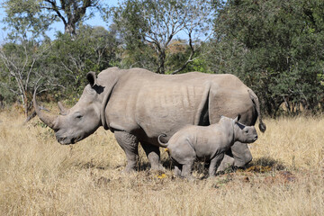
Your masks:
<instances>
[{"instance_id":1,"label":"adult rhino's head with long curved front horn and dark ear","mask_svg":"<svg viewBox=\"0 0 324 216\"><path fill-rule=\"evenodd\" d=\"M33 106L40 120L55 131L56 139L63 145L74 144L94 133L102 125L101 108L103 86L97 85L94 72L87 74L89 85L85 86L79 101L70 109L58 103L59 115L41 112L33 94Z\"/></svg>"}]
</instances>

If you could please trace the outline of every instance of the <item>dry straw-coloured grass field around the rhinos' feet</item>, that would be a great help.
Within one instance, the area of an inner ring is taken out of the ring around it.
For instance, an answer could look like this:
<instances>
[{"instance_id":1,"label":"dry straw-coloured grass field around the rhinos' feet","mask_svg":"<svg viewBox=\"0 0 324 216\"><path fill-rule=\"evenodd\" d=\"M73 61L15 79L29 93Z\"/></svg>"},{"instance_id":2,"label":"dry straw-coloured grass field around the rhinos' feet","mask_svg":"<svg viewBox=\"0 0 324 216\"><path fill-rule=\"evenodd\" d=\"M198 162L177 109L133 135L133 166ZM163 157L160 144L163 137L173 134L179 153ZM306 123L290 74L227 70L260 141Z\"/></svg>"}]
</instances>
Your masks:
<instances>
[{"instance_id":1,"label":"dry straw-coloured grass field around the rhinos' feet","mask_svg":"<svg viewBox=\"0 0 324 216\"><path fill-rule=\"evenodd\" d=\"M188 182L121 174L125 156L102 129L61 146L35 118L0 112L1 215L324 215L324 118L266 120L245 171ZM202 177L198 165L194 175Z\"/></svg>"}]
</instances>

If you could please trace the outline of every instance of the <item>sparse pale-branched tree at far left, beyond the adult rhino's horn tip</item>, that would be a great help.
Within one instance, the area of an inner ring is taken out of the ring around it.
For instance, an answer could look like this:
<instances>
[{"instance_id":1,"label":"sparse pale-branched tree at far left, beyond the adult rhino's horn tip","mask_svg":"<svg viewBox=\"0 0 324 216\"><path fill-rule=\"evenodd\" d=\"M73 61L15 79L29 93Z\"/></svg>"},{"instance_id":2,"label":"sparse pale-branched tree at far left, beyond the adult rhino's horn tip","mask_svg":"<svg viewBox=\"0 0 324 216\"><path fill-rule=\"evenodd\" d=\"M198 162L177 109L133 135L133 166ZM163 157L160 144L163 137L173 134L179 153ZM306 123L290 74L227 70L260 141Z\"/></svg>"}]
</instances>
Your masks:
<instances>
[{"instance_id":1,"label":"sparse pale-branched tree at far left, beyond the adult rhino's horn tip","mask_svg":"<svg viewBox=\"0 0 324 216\"><path fill-rule=\"evenodd\" d=\"M19 44L8 42L0 48L1 88L21 98L25 116L31 109L31 94L42 85L47 91L55 85L55 78L43 70L44 57L50 44L39 44L35 40L22 40Z\"/></svg>"}]
</instances>

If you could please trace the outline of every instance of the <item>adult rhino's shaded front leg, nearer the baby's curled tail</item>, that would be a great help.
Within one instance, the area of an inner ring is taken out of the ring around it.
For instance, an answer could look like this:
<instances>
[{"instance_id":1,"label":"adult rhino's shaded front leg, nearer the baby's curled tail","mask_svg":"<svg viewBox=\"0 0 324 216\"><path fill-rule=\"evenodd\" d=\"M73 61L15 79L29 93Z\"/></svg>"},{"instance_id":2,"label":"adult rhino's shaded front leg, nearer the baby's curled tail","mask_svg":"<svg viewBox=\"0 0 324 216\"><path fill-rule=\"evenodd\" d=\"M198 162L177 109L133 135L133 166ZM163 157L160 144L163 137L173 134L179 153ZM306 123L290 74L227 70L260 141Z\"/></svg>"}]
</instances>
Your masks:
<instances>
[{"instance_id":1,"label":"adult rhino's shaded front leg, nearer the baby's curled tail","mask_svg":"<svg viewBox=\"0 0 324 216\"><path fill-rule=\"evenodd\" d=\"M160 162L160 151L159 148L157 146L154 146L148 142L140 142L140 145L142 146L142 148L144 149L149 163L151 165L151 169L152 170L160 170L163 171L164 167L162 166L161 162Z\"/></svg>"}]
</instances>

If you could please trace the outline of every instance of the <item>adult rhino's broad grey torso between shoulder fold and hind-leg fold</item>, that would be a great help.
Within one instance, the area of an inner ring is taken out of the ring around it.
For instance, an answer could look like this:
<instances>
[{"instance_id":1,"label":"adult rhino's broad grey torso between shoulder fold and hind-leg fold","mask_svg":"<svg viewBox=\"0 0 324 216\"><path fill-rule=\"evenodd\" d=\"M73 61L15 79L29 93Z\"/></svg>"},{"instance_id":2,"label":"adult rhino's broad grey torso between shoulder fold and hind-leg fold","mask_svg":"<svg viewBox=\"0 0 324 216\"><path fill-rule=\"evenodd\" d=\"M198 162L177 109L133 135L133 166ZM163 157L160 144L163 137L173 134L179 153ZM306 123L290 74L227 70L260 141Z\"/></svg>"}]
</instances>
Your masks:
<instances>
[{"instance_id":1,"label":"adult rhino's broad grey torso between shoulder fold and hind-leg fold","mask_svg":"<svg viewBox=\"0 0 324 216\"><path fill-rule=\"evenodd\" d=\"M112 125L124 130L142 129L148 137L162 131L174 133L185 124L198 124L197 110L208 80L196 76L163 76L130 73L116 85L106 113Z\"/></svg>"}]
</instances>

